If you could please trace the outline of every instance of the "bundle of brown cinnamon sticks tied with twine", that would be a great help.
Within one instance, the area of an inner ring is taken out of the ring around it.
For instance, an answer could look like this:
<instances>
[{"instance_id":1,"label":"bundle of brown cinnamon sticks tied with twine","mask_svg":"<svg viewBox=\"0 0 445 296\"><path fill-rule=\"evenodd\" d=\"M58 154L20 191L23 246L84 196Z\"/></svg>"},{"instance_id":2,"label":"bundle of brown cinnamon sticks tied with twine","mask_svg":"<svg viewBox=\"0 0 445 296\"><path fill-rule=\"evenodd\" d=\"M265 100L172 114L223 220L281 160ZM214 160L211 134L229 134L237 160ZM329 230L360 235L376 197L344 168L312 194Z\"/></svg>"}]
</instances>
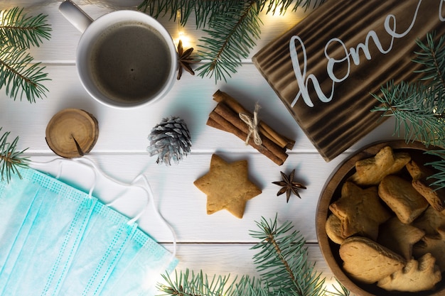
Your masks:
<instances>
[{"instance_id":1,"label":"bundle of brown cinnamon sticks tied with twine","mask_svg":"<svg viewBox=\"0 0 445 296\"><path fill-rule=\"evenodd\" d=\"M207 125L218 128L229 133L233 133L238 138L245 141L249 133L249 126L240 119L239 114L247 114L253 116L240 103L238 103L229 94L221 92L219 89L213 94L213 99L218 102L215 109L210 112ZM289 156L286 149L292 149L295 141L286 138L267 126L263 121L259 121L259 136L262 140L261 145L254 143L252 137L248 139L248 143L260 153L264 154L277 165L282 165L284 160Z\"/></svg>"}]
</instances>

